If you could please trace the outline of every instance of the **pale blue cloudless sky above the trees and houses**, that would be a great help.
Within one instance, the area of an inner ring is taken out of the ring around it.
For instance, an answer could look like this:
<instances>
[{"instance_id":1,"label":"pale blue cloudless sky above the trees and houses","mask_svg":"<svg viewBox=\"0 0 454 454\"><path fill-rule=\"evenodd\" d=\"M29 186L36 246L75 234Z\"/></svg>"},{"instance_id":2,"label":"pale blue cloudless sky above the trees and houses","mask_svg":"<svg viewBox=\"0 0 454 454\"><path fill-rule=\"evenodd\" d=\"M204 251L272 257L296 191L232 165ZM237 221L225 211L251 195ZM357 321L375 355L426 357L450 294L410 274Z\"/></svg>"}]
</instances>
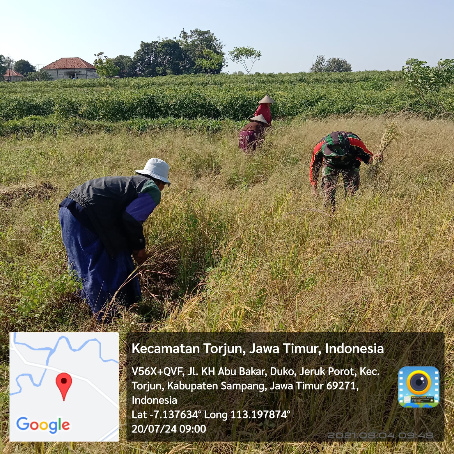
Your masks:
<instances>
[{"instance_id":1,"label":"pale blue cloudless sky above the trees and houses","mask_svg":"<svg viewBox=\"0 0 454 454\"><path fill-rule=\"evenodd\" d=\"M262 51L253 71L307 71L316 55L354 71L400 69L409 57L454 58L453 0L3 1L0 54L49 64L60 57L133 55L140 41L211 30ZM331 23L330 23L331 20ZM242 69L229 61L227 71Z\"/></svg>"}]
</instances>

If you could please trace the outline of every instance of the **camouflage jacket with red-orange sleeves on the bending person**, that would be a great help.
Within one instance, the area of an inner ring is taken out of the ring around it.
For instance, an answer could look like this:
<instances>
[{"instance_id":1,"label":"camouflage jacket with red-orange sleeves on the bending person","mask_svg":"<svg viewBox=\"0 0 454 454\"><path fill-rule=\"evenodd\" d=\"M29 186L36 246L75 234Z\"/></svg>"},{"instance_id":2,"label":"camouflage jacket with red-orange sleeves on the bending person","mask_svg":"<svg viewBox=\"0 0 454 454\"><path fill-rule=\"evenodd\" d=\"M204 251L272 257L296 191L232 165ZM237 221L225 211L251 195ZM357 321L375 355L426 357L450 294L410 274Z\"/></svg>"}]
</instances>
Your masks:
<instances>
[{"instance_id":1,"label":"camouflage jacket with red-orange sleeves on the bending person","mask_svg":"<svg viewBox=\"0 0 454 454\"><path fill-rule=\"evenodd\" d=\"M336 131L316 144L312 153L309 179L312 185L317 184L323 163L331 168L352 168L359 166L361 161L369 164L372 158L372 153L356 134Z\"/></svg>"}]
</instances>

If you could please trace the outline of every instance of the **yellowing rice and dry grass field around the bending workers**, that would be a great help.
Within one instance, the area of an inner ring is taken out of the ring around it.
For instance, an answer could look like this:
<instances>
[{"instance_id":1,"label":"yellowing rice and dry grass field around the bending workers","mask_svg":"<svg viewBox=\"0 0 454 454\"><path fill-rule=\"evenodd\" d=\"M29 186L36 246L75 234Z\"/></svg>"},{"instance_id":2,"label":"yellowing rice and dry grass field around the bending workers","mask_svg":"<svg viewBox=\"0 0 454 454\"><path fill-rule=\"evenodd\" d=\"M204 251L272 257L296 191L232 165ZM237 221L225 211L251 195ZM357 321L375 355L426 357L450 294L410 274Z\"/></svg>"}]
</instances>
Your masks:
<instances>
[{"instance_id":1,"label":"yellowing rice and dry grass field around the bending workers","mask_svg":"<svg viewBox=\"0 0 454 454\"><path fill-rule=\"evenodd\" d=\"M237 133L229 128L0 138L0 182L12 187L0 197L0 451L453 452L454 157L441 145L454 140L454 124L404 116L395 121L403 138L385 151L375 176L361 166L360 191L347 201L338 194L333 216L311 196L313 146L345 129L374 150L388 118L294 119L277 125L253 158L238 150ZM153 257L143 273L144 301L114 324L99 326L88 306L72 297L58 203L90 178L132 174L153 156L170 164L173 184L144 224ZM41 197L20 192L19 185L44 181L56 189ZM8 443L7 333L100 329L119 331L123 366L128 331L444 331L446 440L127 444L123 369L119 444Z\"/></svg>"}]
</instances>

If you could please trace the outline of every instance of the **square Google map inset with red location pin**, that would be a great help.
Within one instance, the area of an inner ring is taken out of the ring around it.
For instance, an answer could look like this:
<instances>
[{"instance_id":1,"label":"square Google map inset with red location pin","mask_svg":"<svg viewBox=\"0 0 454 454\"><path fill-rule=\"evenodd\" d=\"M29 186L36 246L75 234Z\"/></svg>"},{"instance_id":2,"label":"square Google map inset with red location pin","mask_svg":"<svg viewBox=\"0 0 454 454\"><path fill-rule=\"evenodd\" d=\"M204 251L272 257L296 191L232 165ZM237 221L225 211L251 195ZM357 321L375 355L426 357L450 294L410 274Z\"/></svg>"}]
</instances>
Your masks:
<instances>
[{"instance_id":1,"label":"square Google map inset with red location pin","mask_svg":"<svg viewBox=\"0 0 454 454\"><path fill-rule=\"evenodd\" d=\"M118 333L10 333L10 441L118 441Z\"/></svg>"}]
</instances>

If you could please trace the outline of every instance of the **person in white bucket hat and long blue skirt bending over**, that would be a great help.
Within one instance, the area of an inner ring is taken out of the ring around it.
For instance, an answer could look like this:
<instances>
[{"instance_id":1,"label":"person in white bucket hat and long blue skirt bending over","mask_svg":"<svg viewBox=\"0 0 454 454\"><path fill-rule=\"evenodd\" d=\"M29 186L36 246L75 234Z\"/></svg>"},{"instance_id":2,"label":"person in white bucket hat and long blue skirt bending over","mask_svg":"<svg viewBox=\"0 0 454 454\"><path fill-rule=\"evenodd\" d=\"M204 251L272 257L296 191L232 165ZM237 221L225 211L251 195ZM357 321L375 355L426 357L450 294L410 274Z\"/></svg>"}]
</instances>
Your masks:
<instances>
[{"instance_id":1,"label":"person in white bucket hat and long blue skirt bending over","mask_svg":"<svg viewBox=\"0 0 454 454\"><path fill-rule=\"evenodd\" d=\"M109 321L114 304L140 300L134 264L147 259L142 224L170 182L169 166L151 158L132 177L103 177L73 189L60 203L59 221L69 269L82 283L81 296L93 314Z\"/></svg>"}]
</instances>

